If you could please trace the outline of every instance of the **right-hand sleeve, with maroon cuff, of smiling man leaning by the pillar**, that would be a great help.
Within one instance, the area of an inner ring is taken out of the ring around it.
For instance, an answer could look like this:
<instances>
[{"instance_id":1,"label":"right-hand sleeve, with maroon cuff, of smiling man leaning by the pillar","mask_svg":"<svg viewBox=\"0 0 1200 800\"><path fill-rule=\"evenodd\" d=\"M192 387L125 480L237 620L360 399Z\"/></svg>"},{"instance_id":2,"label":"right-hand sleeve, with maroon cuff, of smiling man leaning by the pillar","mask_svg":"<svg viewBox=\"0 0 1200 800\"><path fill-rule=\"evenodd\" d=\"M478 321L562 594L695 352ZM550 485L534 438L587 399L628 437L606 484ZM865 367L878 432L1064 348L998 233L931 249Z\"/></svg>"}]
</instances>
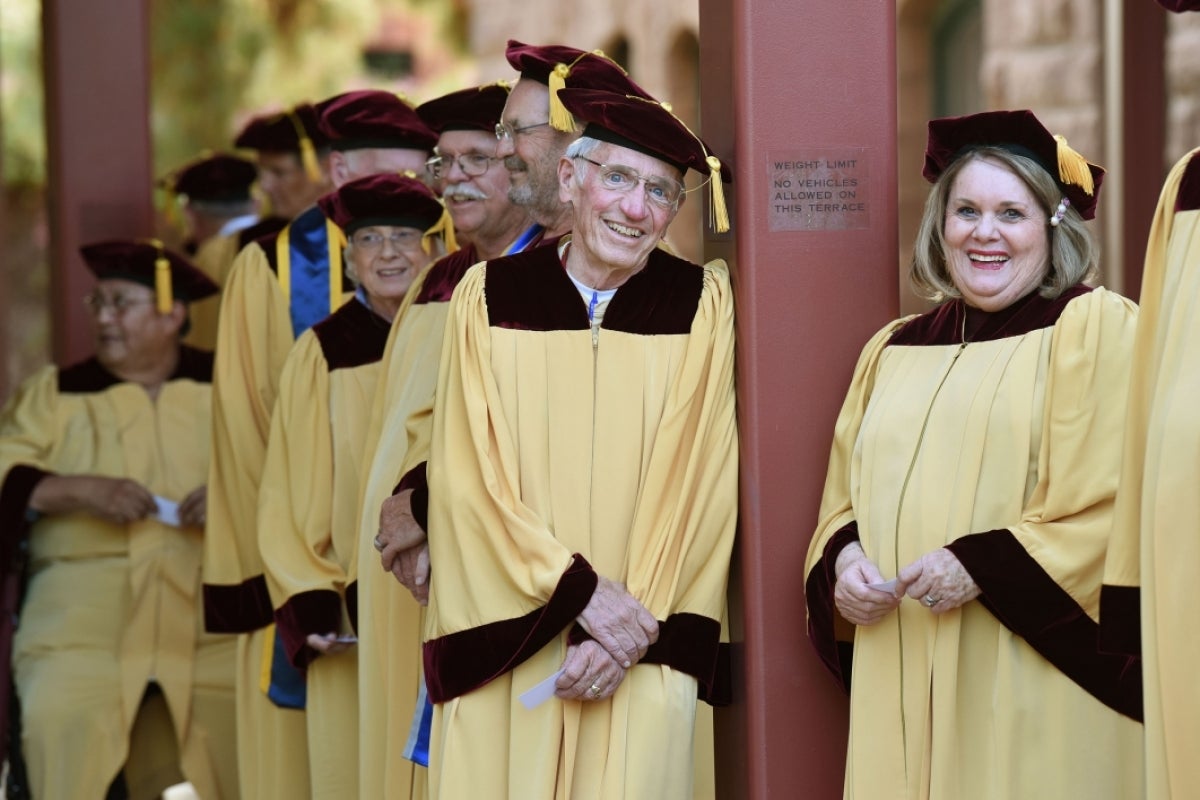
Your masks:
<instances>
[{"instance_id":1,"label":"right-hand sleeve, with maroon cuff, of smiling man leaning by the pillar","mask_svg":"<svg viewBox=\"0 0 1200 800\"><path fill-rule=\"evenodd\" d=\"M728 697L721 646L738 519L733 293L724 261L704 266L700 307L654 432L630 535L626 584L660 620L643 662L666 663Z\"/></svg>"}]
</instances>

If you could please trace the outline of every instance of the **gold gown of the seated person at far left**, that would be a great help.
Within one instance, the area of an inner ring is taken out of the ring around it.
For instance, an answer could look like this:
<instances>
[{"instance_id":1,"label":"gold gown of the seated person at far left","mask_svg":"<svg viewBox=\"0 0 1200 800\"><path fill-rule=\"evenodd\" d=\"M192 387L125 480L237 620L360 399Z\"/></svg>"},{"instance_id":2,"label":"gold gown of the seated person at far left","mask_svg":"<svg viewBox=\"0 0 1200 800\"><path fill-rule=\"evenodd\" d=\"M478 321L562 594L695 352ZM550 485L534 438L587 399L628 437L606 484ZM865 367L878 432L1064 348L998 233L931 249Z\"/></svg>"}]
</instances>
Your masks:
<instances>
[{"instance_id":1,"label":"gold gown of the seated person at far left","mask_svg":"<svg viewBox=\"0 0 1200 800\"><path fill-rule=\"evenodd\" d=\"M46 475L137 481L181 501L204 485L211 354L182 348L157 399L95 359L46 367L0 415L4 536ZM203 632L200 531L157 519L118 525L40 516L14 638L32 796L97 798L131 752L143 693L158 684L184 775L205 799L236 798L234 640ZM140 721L139 721L140 723Z\"/></svg>"}]
</instances>

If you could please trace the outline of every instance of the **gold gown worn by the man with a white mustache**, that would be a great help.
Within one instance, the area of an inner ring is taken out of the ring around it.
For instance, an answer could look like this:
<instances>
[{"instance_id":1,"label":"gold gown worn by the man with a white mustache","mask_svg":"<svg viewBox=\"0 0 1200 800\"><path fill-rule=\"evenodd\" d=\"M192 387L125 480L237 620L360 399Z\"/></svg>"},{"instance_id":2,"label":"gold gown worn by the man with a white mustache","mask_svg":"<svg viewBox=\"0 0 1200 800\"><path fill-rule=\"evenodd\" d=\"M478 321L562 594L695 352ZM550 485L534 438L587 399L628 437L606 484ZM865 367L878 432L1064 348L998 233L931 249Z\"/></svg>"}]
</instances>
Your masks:
<instances>
[{"instance_id":1,"label":"gold gown worn by the man with a white mustache","mask_svg":"<svg viewBox=\"0 0 1200 800\"><path fill-rule=\"evenodd\" d=\"M396 489L410 444L414 458L424 461L428 453L428 435L419 432L427 428L433 404L446 309L454 288L474 263L475 248L467 246L438 259L413 282L388 337L371 411L355 572L364 798L424 796L424 770L397 757L408 739L421 680L421 607L380 569L371 543L379 531L379 506Z\"/></svg>"}]
</instances>

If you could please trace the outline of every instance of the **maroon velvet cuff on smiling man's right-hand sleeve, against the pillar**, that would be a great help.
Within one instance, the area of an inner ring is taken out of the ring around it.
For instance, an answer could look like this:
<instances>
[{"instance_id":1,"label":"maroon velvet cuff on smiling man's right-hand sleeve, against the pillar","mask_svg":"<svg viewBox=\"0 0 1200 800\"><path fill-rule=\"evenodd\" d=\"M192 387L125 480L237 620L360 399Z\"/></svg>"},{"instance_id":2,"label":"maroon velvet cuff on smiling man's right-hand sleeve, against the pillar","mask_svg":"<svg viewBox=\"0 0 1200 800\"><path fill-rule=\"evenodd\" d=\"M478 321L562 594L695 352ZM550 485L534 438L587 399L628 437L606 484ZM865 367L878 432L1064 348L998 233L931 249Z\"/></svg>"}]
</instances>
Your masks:
<instances>
[{"instance_id":1,"label":"maroon velvet cuff on smiling man's right-hand sleeve, against the pillar","mask_svg":"<svg viewBox=\"0 0 1200 800\"><path fill-rule=\"evenodd\" d=\"M592 636L578 622L568 633L570 644ZM678 613L659 622L659 638L637 663L664 664L688 673L698 682L700 699L709 705L728 705L732 680L731 652L721 645L721 624L701 614Z\"/></svg>"}]
</instances>

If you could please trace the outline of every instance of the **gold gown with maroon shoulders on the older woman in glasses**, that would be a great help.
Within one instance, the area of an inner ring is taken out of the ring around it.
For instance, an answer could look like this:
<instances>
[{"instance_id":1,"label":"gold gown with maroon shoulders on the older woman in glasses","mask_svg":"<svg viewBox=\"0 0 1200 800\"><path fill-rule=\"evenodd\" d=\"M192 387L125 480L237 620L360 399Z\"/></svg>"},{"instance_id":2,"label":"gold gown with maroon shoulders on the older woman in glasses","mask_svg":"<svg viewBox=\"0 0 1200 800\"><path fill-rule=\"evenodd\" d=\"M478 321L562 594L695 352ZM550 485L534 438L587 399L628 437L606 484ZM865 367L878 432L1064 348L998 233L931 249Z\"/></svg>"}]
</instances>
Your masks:
<instances>
[{"instance_id":1,"label":"gold gown with maroon shoulders on the older woman in glasses","mask_svg":"<svg viewBox=\"0 0 1200 800\"><path fill-rule=\"evenodd\" d=\"M320 656L305 640L350 631L362 450L389 327L353 301L300 335L280 378L259 492L276 627L292 663L307 672L314 799L359 796L356 649Z\"/></svg>"}]
</instances>

